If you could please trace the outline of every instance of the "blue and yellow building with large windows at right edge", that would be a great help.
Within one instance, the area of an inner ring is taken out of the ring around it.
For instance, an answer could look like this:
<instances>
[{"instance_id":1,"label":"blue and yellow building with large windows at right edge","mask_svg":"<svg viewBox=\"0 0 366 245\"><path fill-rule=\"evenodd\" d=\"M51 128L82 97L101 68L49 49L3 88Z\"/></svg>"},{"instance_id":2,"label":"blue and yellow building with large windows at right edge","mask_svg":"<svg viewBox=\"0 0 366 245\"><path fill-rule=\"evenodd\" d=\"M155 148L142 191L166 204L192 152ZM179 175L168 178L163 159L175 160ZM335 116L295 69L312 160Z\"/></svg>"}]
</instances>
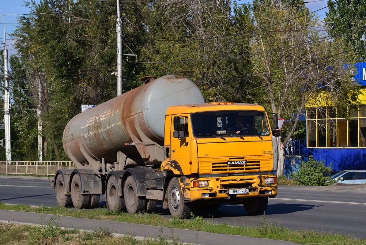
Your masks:
<instances>
[{"instance_id":1,"label":"blue and yellow building with large windows at right edge","mask_svg":"<svg viewBox=\"0 0 366 245\"><path fill-rule=\"evenodd\" d=\"M335 171L366 170L366 62L356 63L355 69L355 79L364 87L350 121L340 118L335 107L310 107L306 112L306 148L300 154L334 164Z\"/></svg>"}]
</instances>

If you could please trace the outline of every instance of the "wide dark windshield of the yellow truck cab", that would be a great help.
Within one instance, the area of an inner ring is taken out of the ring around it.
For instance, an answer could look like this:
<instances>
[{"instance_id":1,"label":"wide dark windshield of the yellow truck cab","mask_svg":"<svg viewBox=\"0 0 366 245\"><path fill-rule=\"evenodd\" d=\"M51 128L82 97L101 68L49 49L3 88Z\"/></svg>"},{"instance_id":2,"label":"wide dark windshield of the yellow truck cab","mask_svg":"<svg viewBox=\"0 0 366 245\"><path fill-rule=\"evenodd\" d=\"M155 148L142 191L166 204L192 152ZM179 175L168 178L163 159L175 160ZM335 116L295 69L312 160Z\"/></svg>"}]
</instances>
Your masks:
<instances>
[{"instance_id":1,"label":"wide dark windshield of the yellow truck cab","mask_svg":"<svg viewBox=\"0 0 366 245\"><path fill-rule=\"evenodd\" d=\"M263 111L210 111L191 115L197 138L270 135Z\"/></svg>"}]
</instances>

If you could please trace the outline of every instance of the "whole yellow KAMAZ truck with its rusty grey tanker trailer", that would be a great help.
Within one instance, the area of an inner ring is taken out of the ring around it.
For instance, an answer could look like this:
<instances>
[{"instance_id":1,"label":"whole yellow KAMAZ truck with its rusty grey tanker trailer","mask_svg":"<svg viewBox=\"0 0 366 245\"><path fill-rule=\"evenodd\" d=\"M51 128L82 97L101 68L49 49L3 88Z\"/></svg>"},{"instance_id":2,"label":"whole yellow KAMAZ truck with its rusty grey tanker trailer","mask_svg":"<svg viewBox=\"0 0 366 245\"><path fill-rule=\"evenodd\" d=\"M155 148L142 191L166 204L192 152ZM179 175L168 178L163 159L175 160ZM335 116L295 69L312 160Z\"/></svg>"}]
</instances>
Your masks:
<instances>
[{"instance_id":1,"label":"whole yellow KAMAZ truck with its rusty grey tanker trailer","mask_svg":"<svg viewBox=\"0 0 366 245\"><path fill-rule=\"evenodd\" d=\"M68 122L63 146L76 168L56 171L58 204L94 208L104 194L129 213L162 202L173 216L223 203L262 214L277 194L276 116L272 131L260 105L205 103L179 75L143 81Z\"/></svg>"}]
</instances>

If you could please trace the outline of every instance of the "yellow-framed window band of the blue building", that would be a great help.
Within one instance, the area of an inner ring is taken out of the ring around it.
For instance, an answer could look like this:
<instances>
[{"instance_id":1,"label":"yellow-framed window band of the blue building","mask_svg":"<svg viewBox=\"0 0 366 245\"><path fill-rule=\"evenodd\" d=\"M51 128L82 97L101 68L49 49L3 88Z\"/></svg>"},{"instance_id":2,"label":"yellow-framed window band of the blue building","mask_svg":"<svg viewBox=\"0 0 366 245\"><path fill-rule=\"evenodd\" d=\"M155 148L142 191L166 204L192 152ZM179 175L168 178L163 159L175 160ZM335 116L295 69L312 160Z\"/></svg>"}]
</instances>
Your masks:
<instances>
[{"instance_id":1,"label":"yellow-framed window band of the blue building","mask_svg":"<svg viewBox=\"0 0 366 245\"><path fill-rule=\"evenodd\" d=\"M350 121L337 117L335 107L307 109L307 147L366 147L366 105L350 114Z\"/></svg>"}]
</instances>

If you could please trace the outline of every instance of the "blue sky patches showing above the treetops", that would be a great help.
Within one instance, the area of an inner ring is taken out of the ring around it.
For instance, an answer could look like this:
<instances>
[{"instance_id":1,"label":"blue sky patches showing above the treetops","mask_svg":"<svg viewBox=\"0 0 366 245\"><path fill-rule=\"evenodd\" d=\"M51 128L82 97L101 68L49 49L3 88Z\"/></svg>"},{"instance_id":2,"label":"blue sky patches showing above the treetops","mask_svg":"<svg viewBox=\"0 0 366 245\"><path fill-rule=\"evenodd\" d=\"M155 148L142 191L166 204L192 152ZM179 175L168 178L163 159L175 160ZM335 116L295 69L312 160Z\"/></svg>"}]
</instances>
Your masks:
<instances>
[{"instance_id":1,"label":"blue sky patches showing above the treetops","mask_svg":"<svg viewBox=\"0 0 366 245\"><path fill-rule=\"evenodd\" d=\"M36 0L38 2L38 0ZM243 0L243 3L246 3L246 0ZM240 1L238 2L240 4ZM16 18L18 14L27 14L29 13L29 8L23 6L23 0L0 0L0 16L4 19L5 22L5 30L6 37L10 39L9 33L12 33L16 28L16 23L18 22ZM324 8L327 6L327 0L311 0L310 3L306 3L306 7L309 8L310 12L319 10L320 8ZM328 12L328 8L317 11L316 13L321 16L321 18L325 17L325 12ZM4 24L0 19L0 49L3 49L4 45ZM9 54L13 54L16 50L12 49L12 40L6 40L7 49L9 50Z\"/></svg>"}]
</instances>

